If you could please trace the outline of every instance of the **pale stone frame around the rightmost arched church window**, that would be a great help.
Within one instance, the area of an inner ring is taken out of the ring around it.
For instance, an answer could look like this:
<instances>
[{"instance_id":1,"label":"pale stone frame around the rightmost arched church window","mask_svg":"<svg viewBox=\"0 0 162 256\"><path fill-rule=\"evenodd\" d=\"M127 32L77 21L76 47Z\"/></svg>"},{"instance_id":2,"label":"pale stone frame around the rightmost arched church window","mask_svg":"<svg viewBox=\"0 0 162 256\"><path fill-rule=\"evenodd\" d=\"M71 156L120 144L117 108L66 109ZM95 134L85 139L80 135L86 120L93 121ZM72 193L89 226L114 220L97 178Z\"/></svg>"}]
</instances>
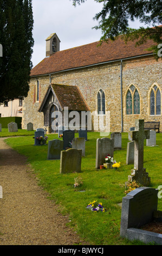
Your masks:
<instances>
[{"instance_id":1,"label":"pale stone frame around the rightmost arched church window","mask_svg":"<svg viewBox=\"0 0 162 256\"><path fill-rule=\"evenodd\" d=\"M151 101L150 101L150 99L151 99L151 92L152 92L152 90L153 90L153 92L154 92L154 113L156 113L156 107L157 107L157 102L156 102L156 100L157 100L157 98L156 98L156 96L157 96L157 92L158 92L158 89L156 89L156 90L154 90L154 87L157 87L158 89L159 89L159 91L160 91L160 95L161 95L161 97L160 97L160 100L161 100L161 113L162 113L162 93L161 93L161 88L160 88L160 86L159 86L159 84L157 83L157 82L154 82L153 84L152 84L152 86L150 87L150 89L149 89L149 91L148 91L148 108L147 108L147 114L148 115L150 115L151 117L154 117L154 116L160 116L161 115L161 113L160 114L151 114Z\"/></svg>"}]
</instances>

